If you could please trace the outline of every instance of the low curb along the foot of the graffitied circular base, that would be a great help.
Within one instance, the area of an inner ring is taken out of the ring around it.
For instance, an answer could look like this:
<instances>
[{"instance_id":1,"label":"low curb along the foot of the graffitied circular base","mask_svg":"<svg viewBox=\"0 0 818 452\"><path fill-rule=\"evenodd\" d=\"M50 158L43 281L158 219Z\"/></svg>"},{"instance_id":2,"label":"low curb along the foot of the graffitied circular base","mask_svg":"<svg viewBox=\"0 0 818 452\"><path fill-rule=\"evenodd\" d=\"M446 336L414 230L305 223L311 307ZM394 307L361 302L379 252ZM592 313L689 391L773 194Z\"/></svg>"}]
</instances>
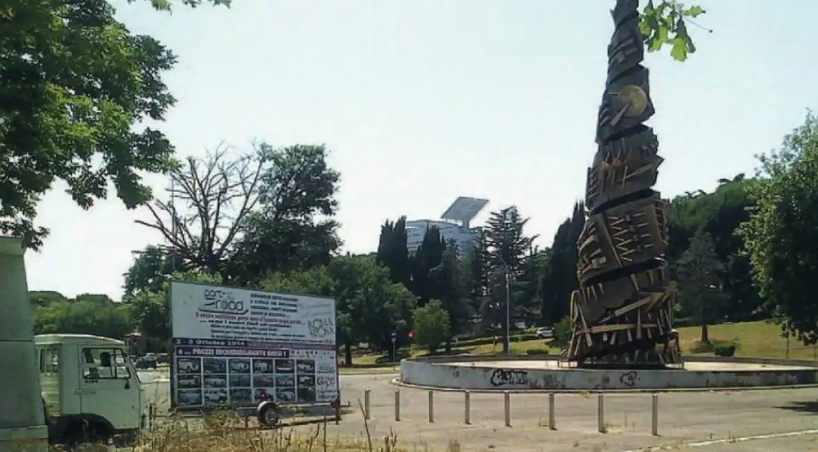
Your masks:
<instances>
[{"instance_id":1,"label":"low curb along the foot of the graffitied circular base","mask_svg":"<svg viewBox=\"0 0 818 452\"><path fill-rule=\"evenodd\" d=\"M771 391L776 389L815 389L818 383L809 385L778 385L778 386L724 386L724 387L668 387L668 388L644 388L644 389L606 389L606 390L585 390L585 389L457 389L452 387L420 386L411 383L404 383L400 378L393 378L389 384L393 386L406 387L410 389L420 389L424 391L438 392L465 392L473 394L652 394L661 392L739 392L739 391Z\"/></svg>"}]
</instances>

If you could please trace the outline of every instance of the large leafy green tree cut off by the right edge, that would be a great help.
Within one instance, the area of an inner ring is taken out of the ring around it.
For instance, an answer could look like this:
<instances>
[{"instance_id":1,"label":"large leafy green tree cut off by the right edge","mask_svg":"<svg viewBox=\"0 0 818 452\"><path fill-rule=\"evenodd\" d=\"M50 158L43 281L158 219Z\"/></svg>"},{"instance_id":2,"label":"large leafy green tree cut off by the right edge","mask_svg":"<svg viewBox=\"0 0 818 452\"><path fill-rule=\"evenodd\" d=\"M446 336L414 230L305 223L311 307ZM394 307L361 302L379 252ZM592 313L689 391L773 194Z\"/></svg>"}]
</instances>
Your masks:
<instances>
[{"instance_id":1,"label":"large leafy green tree cut off by the right edge","mask_svg":"<svg viewBox=\"0 0 818 452\"><path fill-rule=\"evenodd\" d=\"M818 341L818 118L784 138L778 151L759 156L759 180L748 192L756 206L740 228L753 263L753 281L782 316L785 331L804 344Z\"/></svg>"}]
</instances>

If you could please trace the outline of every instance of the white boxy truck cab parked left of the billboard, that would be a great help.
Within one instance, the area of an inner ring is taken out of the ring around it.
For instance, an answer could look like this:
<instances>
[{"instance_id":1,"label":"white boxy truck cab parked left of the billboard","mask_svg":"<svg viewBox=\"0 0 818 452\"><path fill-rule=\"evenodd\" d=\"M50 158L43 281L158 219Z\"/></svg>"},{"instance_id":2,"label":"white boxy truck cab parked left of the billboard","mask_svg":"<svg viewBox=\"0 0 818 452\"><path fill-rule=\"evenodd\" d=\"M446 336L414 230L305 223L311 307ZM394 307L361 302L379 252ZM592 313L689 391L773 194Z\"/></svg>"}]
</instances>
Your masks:
<instances>
[{"instance_id":1,"label":"white boxy truck cab parked left of the billboard","mask_svg":"<svg viewBox=\"0 0 818 452\"><path fill-rule=\"evenodd\" d=\"M136 436L146 398L123 341L88 334L34 336L40 387L54 444Z\"/></svg>"}]
</instances>

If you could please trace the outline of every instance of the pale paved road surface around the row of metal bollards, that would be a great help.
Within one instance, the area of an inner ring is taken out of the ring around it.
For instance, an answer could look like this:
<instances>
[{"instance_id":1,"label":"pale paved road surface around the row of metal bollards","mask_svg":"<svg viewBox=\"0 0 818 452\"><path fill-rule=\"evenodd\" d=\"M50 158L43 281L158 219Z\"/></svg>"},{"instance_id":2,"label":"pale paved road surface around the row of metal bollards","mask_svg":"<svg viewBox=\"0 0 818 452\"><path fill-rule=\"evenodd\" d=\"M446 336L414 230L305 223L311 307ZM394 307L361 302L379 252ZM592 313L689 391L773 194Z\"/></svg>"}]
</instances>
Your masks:
<instances>
[{"instance_id":1,"label":"pale paved road surface around the row of metal bollards","mask_svg":"<svg viewBox=\"0 0 818 452\"><path fill-rule=\"evenodd\" d=\"M142 375L141 375L142 376ZM169 382L152 378L148 396L167 404ZM458 441L464 450L592 450L625 452L654 446L675 449L682 443L706 452L757 450L818 450L818 389L771 391L710 391L664 393L659 397L660 436L650 436L650 395L605 397L605 434L597 432L596 395L556 396L556 427L547 423L547 396L511 395L512 426L505 427L500 394L471 395L471 425L463 423L463 395L434 393L434 423L428 422L426 391L401 388L401 420L394 420L393 376L341 377L344 403L357 407L366 389L371 390L370 432L382 438L389 429L398 432L406 447L446 450ZM161 409L161 407L160 407ZM299 427L308 428L308 427ZM811 431L811 432L809 432ZM802 432L789 436L775 436ZM806 432L806 433L804 433ZM330 435L364 433L362 414L345 415ZM772 435L772 436L771 436Z\"/></svg>"}]
</instances>

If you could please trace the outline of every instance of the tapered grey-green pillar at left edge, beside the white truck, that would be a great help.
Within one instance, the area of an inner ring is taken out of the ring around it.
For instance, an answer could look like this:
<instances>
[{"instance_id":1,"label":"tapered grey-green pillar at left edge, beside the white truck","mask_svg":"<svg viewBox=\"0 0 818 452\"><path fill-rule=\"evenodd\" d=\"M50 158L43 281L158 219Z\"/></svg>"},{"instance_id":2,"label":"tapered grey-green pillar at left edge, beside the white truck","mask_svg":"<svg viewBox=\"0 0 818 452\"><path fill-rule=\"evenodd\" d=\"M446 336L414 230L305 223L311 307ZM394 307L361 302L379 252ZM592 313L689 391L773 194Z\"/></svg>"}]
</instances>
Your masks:
<instances>
[{"instance_id":1,"label":"tapered grey-green pillar at left edge, beside the white truck","mask_svg":"<svg viewBox=\"0 0 818 452\"><path fill-rule=\"evenodd\" d=\"M0 237L0 450L47 452L38 359L34 356L34 315L19 239Z\"/></svg>"}]
</instances>

